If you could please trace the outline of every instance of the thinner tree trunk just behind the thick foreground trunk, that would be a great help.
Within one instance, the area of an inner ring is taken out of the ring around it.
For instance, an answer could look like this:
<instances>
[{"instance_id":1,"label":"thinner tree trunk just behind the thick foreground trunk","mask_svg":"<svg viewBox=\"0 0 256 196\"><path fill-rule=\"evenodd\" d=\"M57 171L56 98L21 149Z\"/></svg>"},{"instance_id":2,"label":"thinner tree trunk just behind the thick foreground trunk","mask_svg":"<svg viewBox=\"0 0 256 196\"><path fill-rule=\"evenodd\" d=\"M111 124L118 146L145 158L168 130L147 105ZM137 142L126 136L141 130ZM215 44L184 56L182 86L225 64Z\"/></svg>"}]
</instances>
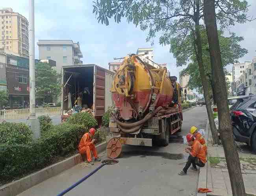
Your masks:
<instances>
[{"instance_id":1,"label":"thinner tree trunk just behind the thick foreground trunk","mask_svg":"<svg viewBox=\"0 0 256 196\"><path fill-rule=\"evenodd\" d=\"M197 62L198 62L198 67L199 67L199 72L202 80L202 86L204 90L204 100L206 104L206 110L208 114L208 119L210 123L210 128L211 128L211 135L213 139L213 144L219 144L219 138L218 138L218 132L217 128L214 122L213 118L213 113L211 109L211 101L210 101L210 93L209 93L209 86L208 86L208 81L206 80L206 74L205 74L205 69L204 69L204 64L202 60L202 41L201 41L201 33L200 33L200 25L199 25L199 10L200 8L200 1L197 0L197 12L195 13L196 19L195 19L195 36L194 37L194 48L195 48L195 53L197 56Z\"/></svg>"}]
</instances>

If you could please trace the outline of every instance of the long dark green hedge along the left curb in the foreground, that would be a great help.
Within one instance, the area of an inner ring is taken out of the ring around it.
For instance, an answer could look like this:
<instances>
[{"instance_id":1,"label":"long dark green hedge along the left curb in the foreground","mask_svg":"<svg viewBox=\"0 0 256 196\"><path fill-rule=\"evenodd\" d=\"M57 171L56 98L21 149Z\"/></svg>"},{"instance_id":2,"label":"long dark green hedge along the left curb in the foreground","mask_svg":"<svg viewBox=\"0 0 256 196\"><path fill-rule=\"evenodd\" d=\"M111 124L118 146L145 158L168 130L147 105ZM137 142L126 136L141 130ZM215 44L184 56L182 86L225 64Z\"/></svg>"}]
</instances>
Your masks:
<instances>
[{"instance_id":1,"label":"long dark green hedge along the left curb in the foreground","mask_svg":"<svg viewBox=\"0 0 256 196\"><path fill-rule=\"evenodd\" d=\"M41 138L26 144L0 144L0 179L11 180L49 165L56 156L65 156L78 149L81 125L52 126Z\"/></svg>"}]
</instances>

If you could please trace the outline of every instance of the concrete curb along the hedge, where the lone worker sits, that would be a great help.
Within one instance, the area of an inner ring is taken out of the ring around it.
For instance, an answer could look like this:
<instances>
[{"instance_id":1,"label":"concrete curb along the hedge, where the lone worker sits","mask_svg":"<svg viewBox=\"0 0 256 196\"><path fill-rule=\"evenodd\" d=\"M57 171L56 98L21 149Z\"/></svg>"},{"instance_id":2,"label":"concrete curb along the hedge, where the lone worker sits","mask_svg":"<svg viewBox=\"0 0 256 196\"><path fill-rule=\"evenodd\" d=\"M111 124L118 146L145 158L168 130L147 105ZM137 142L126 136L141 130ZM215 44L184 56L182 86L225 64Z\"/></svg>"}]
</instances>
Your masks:
<instances>
[{"instance_id":1,"label":"concrete curb along the hedge, where the lone worker sits","mask_svg":"<svg viewBox=\"0 0 256 196\"><path fill-rule=\"evenodd\" d=\"M100 143L96 146L96 150L98 154L105 151L107 146L107 142ZM30 174L20 180L13 181L6 185L0 187L0 195L1 196L15 196L20 194L21 192L41 183L42 181L47 180L57 174L77 165L78 163L82 162L80 160L80 154L75 154L61 162L55 163L50 165L44 169L41 169L38 172Z\"/></svg>"}]
</instances>

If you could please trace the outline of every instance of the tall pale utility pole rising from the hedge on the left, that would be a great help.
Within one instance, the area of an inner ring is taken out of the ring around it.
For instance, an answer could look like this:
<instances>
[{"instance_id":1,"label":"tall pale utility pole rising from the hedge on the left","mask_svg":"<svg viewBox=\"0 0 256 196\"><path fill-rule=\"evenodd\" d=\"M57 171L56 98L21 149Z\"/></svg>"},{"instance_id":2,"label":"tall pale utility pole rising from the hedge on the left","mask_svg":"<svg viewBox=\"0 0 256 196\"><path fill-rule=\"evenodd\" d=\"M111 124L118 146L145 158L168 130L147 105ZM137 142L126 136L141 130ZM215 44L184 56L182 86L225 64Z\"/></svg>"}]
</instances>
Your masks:
<instances>
[{"instance_id":1,"label":"tall pale utility pole rising from the hedge on the left","mask_svg":"<svg viewBox=\"0 0 256 196\"><path fill-rule=\"evenodd\" d=\"M34 0L29 0L29 76L30 76L30 116L28 125L33 131L34 138L40 138L39 120L35 116L35 20Z\"/></svg>"}]
</instances>

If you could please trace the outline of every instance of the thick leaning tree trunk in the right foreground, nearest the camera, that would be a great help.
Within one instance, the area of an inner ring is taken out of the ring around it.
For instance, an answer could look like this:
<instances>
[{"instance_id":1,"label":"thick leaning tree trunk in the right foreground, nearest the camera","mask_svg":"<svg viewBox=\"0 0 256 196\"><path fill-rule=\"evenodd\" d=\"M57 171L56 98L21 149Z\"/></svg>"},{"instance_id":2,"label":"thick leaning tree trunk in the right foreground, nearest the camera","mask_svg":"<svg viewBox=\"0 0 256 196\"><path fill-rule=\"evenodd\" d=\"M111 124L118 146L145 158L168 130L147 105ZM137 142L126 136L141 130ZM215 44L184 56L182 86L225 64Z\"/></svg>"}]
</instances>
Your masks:
<instances>
[{"instance_id":1,"label":"thick leaning tree trunk in the right foreground, nearest the camera","mask_svg":"<svg viewBox=\"0 0 256 196\"><path fill-rule=\"evenodd\" d=\"M224 70L221 62L219 38L215 20L215 5L213 0L204 0L204 21L210 49L211 67L213 70L214 90L216 96L219 130L226 156L228 173L233 196L245 196L245 186L241 173L239 156L234 145L232 126L227 102L227 91Z\"/></svg>"}]
</instances>

